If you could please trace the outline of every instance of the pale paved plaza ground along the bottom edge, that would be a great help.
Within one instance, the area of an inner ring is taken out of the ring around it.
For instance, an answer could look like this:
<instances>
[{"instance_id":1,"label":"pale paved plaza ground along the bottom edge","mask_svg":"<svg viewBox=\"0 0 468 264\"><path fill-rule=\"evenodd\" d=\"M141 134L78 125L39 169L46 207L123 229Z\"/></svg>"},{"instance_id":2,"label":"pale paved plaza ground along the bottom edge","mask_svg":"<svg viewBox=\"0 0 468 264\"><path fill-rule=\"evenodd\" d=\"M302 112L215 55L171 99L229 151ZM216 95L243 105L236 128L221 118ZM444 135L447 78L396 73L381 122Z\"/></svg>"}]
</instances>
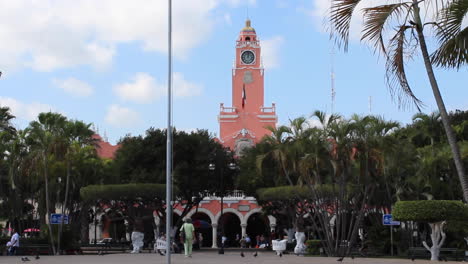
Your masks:
<instances>
[{"instance_id":1,"label":"pale paved plaza ground along the bottom edge","mask_svg":"<svg viewBox=\"0 0 468 264\"><path fill-rule=\"evenodd\" d=\"M28 257L31 261L21 261L21 256L6 257L0 256L0 263L7 264L158 264L166 263L166 257L158 254L108 254L104 256L83 255L83 256L41 256L39 260L34 257ZM337 264L337 258L324 257L298 257L294 255L276 256L273 252L258 253L258 257L253 257L249 252L242 258L239 252L226 252L224 255L218 255L216 252L195 252L192 258L185 258L183 255L172 255L173 264ZM369 264L393 264L393 263L431 263L429 260L409 259L383 259L383 258L345 258L342 263L369 263ZM433 263L433 262L432 262ZM437 263L437 262L436 262ZM460 263L449 261L447 263Z\"/></svg>"}]
</instances>

